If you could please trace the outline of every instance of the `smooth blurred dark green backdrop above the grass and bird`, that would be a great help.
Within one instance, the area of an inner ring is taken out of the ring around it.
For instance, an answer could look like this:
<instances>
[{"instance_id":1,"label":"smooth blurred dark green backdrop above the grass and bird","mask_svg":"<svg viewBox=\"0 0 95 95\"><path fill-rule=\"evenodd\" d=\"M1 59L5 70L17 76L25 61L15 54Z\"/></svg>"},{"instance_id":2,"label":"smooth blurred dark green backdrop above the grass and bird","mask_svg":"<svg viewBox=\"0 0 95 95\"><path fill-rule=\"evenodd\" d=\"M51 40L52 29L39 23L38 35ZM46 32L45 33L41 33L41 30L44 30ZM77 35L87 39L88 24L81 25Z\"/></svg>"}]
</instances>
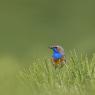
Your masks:
<instances>
[{"instance_id":1,"label":"smooth blurred dark green backdrop above the grass and bird","mask_svg":"<svg viewBox=\"0 0 95 95\"><path fill-rule=\"evenodd\" d=\"M0 55L45 55L56 43L91 54L94 40L94 0L0 0Z\"/></svg>"}]
</instances>

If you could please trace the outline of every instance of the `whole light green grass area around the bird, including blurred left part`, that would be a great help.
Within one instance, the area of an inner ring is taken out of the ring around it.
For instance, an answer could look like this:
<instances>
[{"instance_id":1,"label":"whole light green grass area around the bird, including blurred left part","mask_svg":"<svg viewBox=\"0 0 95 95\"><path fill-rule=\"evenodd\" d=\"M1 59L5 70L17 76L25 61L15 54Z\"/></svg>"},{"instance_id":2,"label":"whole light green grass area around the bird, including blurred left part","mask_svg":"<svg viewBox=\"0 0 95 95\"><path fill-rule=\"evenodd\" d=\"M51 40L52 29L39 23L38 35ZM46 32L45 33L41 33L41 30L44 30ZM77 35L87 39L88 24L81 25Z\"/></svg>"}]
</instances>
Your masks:
<instances>
[{"instance_id":1,"label":"whole light green grass area around the bird, including blurred left part","mask_svg":"<svg viewBox=\"0 0 95 95\"><path fill-rule=\"evenodd\" d=\"M72 52L61 69L55 69L48 58L28 60L23 67L14 62L18 63L9 57L0 62L1 95L95 94L95 55L88 59Z\"/></svg>"}]
</instances>

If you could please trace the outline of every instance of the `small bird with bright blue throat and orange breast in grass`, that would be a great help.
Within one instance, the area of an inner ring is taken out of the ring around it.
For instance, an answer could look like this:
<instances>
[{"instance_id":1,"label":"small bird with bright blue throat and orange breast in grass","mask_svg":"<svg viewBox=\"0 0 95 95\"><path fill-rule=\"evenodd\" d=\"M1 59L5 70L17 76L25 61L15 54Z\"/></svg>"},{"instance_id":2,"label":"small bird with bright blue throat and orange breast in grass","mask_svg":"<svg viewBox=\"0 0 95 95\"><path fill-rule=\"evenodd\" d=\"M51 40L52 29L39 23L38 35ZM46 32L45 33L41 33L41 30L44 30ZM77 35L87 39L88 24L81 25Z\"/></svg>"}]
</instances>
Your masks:
<instances>
[{"instance_id":1,"label":"small bird with bright blue throat and orange breast in grass","mask_svg":"<svg viewBox=\"0 0 95 95\"><path fill-rule=\"evenodd\" d=\"M66 59L65 59L64 49L62 48L62 46L53 45L53 46L50 46L49 49L53 51L51 62L54 65L63 66L63 63L66 63Z\"/></svg>"}]
</instances>

